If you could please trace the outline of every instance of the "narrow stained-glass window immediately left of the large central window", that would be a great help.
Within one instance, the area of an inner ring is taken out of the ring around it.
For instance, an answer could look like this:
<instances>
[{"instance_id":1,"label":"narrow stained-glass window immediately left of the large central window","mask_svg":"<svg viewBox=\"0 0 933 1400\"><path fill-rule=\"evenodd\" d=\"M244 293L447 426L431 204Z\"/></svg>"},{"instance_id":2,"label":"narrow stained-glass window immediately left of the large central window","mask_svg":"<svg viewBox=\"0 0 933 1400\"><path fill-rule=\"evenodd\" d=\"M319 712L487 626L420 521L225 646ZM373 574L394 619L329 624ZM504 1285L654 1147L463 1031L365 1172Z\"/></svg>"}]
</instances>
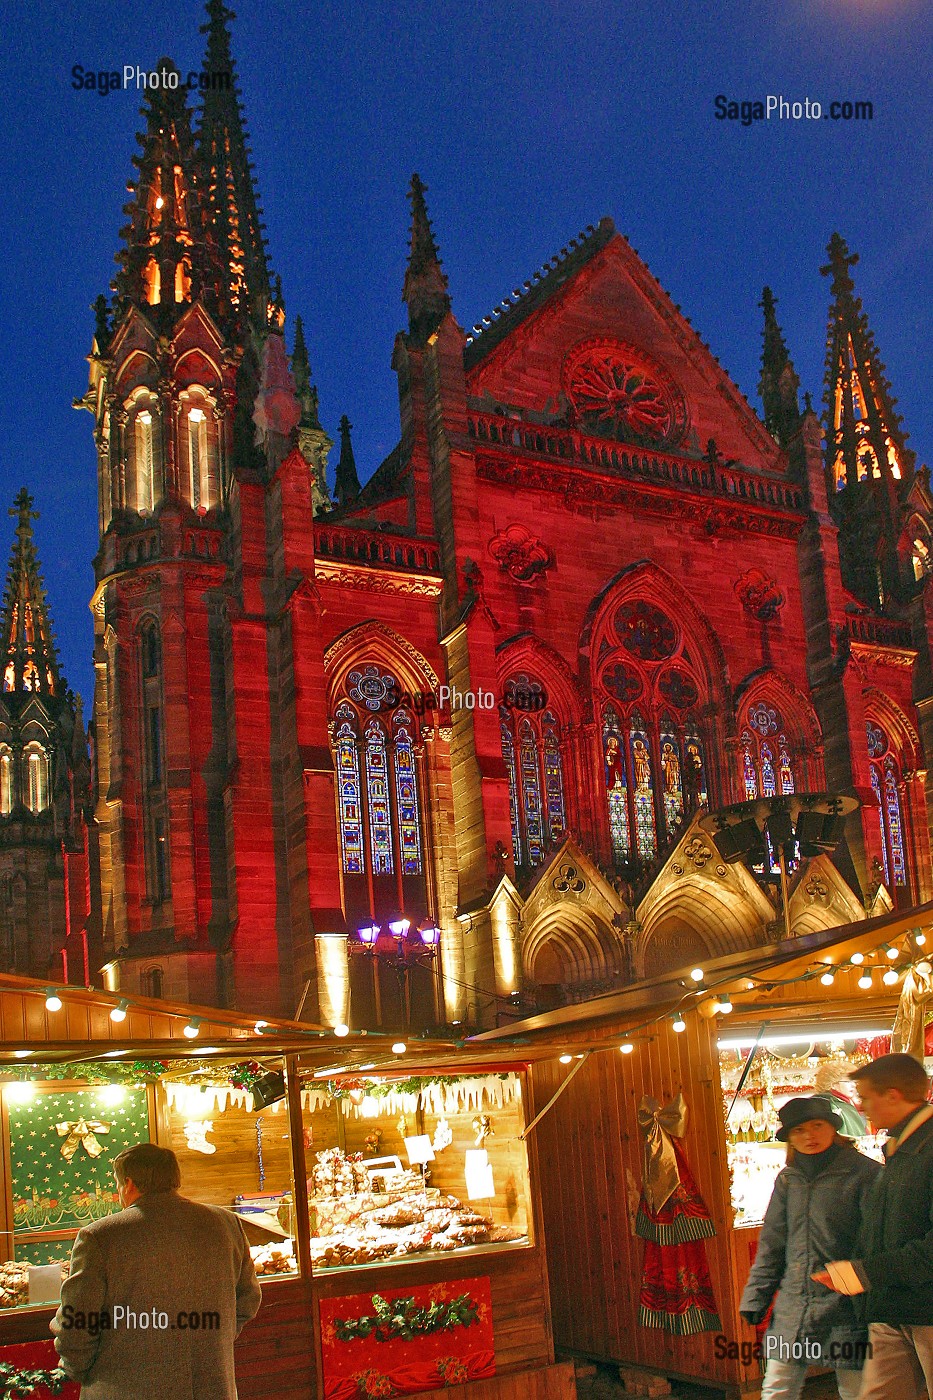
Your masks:
<instances>
[{"instance_id":1,"label":"narrow stained-glass window immediately left of the large central window","mask_svg":"<svg viewBox=\"0 0 933 1400\"><path fill-rule=\"evenodd\" d=\"M503 689L500 707L502 756L509 776L513 858L516 865L541 865L559 846L567 827L563 792L560 721L553 710L525 714L514 697L538 697L546 704L539 680L513 676ZM507 701L513 699L513 703Z\"/></svg>"}]
</instances>

